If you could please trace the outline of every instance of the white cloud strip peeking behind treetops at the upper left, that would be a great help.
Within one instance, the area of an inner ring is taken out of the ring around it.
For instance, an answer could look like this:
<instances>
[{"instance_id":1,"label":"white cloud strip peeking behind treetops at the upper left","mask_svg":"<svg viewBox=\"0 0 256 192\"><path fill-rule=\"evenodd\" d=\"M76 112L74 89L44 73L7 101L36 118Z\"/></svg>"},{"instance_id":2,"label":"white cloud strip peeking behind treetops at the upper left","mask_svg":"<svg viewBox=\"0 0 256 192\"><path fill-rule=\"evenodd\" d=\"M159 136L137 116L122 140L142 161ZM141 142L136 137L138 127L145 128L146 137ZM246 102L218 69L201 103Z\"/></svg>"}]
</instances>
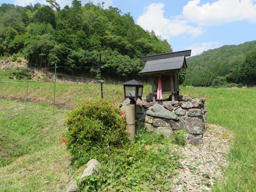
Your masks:
<instances>
[{"instance_id":1,"label":"white cloud strip peeking behind treetops at the upper left","mask_svg":"<svg viewBox=\"0 0 256 192\"><path fill-rule=\"evenodd\" d=\"M108 8L109 6L113 5L113 0L91 0L93 4L97 5L97 3L102 3L105 2L104 8ZM21 5L21 6L26 6L29 3L32 3L33 5L35 3L41 3L41 4L47 4L45 0L15 0L14 4L15 5ZM89 0L82 0L82 5L88 3ZM72 0L57 0L57 3L60 4L60 7L63 8L65 5L71 6Z\"/></svg>"}]
</instances>

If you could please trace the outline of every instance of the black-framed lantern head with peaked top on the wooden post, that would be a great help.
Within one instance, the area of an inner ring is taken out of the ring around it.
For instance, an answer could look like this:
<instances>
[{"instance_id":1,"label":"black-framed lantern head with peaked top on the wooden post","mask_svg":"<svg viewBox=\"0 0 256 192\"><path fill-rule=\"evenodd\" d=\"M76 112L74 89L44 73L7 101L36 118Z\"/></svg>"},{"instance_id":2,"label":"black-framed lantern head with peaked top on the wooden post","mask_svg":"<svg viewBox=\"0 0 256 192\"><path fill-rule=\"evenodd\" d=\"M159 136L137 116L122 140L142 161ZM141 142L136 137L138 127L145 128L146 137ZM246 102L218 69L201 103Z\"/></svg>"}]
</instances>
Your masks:
<instances>
[{"instance_id":1,"label":"black-framed lantern head with peaked top on the wooden post","mask_svg":"<svg viewBox=\"0 0 256 192\"><path fill-rule=\"evenodd\" d=\"M130 80L123 83L124 85L124 97L125 98L142 98L143 92L143 83L140 83L136 80Z\"/></svg>"}]
</instances>

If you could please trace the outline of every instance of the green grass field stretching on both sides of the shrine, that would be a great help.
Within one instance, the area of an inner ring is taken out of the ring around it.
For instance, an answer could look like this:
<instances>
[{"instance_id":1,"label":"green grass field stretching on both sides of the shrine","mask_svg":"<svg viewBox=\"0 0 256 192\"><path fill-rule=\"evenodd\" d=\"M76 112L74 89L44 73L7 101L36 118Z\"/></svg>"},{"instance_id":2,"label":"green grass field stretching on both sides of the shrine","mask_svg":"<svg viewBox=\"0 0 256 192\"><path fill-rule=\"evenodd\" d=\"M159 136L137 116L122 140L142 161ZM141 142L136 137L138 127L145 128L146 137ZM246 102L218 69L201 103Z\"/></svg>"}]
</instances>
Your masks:
<instances>
[{"instance_id":1,"label":"green grass field stretching on both sides of the shrine","mask_svg":"<svg viewBox=\"0 0 256 192\"><path fill-rule=\"evenodd\" d=\"M52 115L52 106L35 105L26 109L4 110L24 103L26 83L0 83L0 187L5 191L26 189L56 191L57 183L67 181L74 170L69 167L69 156L60 146L64 130L66 109ZM100 98L99 84L57 84L56 100L59 107L74 108L84 100ZM50 104L53 101L53 84L30 83L30 103ZM103 85L104 98L113 103L123 100L123 87ZM144 86L143 95L151 90ZM229 166L223 170L225 182L215 191L255 191L256 189L256 88L214 89L181 87L181 94L207 97L208 123L230 129L234 143L229 153ZM7 98L7 99L6 99ZM7 134L8 133L8 134ZM8 135L8 138L6 135ZM31 140L32 139L32 140ZM2 155L15 146L7 155ZM49 163L49 164L48 164ZM59 167L59 168L58 168ZM26 170L28 169L28 170ZM30 170L31 169L31 170ZM41 177L37 175L37 169ZM44 171L46 169L46 171ZM26 177L23 174L26 173ZM55 186L54 186L55 185Z\"/></svg>"}]
</instances>

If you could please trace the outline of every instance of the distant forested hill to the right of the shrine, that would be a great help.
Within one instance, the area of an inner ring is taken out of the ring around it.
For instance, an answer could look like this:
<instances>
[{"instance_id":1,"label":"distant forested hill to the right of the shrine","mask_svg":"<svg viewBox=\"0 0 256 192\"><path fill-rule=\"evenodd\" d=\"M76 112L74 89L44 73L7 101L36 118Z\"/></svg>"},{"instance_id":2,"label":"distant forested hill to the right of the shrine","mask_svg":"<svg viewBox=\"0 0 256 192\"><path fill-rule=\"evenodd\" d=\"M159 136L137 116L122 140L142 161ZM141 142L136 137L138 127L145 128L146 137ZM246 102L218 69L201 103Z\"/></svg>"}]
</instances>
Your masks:
<instances>
[{"instance_id":1,"label":"distant forested hill to the right of the shrine","mask_svg":"<svg viewBox=\"0 0 256 192\"><path fill-rule=\"evenodd\" d=\"M187 64L185 85L256 84L256 41L210 49L189 57Z\"/></svg>"}]
</instances>

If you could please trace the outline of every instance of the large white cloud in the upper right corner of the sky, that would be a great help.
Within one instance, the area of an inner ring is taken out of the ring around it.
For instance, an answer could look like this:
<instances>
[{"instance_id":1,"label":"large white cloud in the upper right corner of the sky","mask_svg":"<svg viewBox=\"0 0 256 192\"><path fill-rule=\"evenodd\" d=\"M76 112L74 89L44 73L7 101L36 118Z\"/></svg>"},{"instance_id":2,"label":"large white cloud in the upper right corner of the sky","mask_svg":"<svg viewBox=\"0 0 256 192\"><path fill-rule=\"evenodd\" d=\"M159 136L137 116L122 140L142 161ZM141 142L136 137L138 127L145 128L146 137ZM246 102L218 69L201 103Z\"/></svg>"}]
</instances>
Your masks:
<instances>
[{"instance_id":1,"label":"large white cloud in the upper right corner of the sky","mask_svg":"<svg viewBox=\"0 0 256 192\"><path fill-rule=\"evenodd\" d=\"M191 0L183 7L183 16L189 22L201 26L218 25L239 20L256 23L255 0L217 0L212 4L198 5L200 0Z\"/></svg>"}]
</instances>

